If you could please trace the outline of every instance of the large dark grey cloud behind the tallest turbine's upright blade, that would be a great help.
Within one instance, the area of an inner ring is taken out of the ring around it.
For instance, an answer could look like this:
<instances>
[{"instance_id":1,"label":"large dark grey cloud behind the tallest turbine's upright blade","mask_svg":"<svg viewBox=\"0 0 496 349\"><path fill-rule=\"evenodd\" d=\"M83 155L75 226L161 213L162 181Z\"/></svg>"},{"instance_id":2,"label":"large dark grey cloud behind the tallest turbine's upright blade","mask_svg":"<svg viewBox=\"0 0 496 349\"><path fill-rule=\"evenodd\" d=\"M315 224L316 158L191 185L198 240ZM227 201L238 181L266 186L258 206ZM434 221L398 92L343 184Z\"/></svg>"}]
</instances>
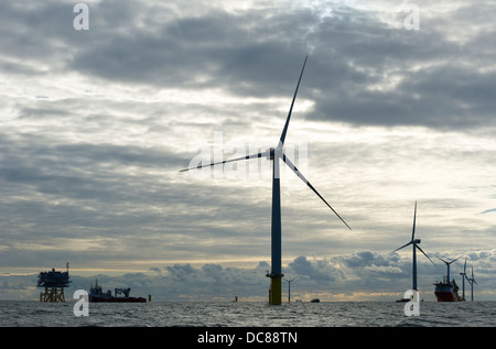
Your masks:
<instances>
[{"instance_id":1,"label":"large dark grey cloud behind the tallest turbine's upright blade","mask_svg":"<svg viewBox=\"0 0 496 349\"><path fill-rule=\"evenodd\" d=\"M478 73L490 62L467 65L484 45L482 37L461 50L435 26L412 33L387 28L373 13L359 13L360 20L356 14L351 8L324 19L310 12L277 11L270 19L207 13L168 22L157 36L139 31L116 36L110 45L76 55L74 67L161 86L229 86L238 95L291 96L310 45L314 50L300 96L316 102L309 119L448 129L492 122L493 74ZM247 35L249 20L262 24ZM308 36L301 33L306 41L294 40L287 23L295 22L312 28ZM427 68L412 70L419 64ZM401 81L393 89L369 90L396 77Z\"/></svg>"}]
</instances>

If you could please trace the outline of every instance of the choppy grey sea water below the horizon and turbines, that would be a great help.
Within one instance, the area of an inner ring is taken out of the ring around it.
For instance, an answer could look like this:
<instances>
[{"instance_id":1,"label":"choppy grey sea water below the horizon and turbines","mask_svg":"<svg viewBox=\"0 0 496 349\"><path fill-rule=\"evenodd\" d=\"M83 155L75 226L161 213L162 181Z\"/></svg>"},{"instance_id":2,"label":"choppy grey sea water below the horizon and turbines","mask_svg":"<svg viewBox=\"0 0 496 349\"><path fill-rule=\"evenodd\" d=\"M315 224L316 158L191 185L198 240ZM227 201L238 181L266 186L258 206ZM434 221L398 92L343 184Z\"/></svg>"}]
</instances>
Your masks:
<instances>
[{"instance_id":1,"label":"choppy grey sea water below the horizon and turbines","mask_svg":"<svg viewBox=\"0 0 496 349\"><path fill-rule=\"evenodd\" d=\"M495 327L496 302L421 302L419 316L389 302L151 302L89 304L0 301L1 327Z\"/></svg>"}]
</instances>

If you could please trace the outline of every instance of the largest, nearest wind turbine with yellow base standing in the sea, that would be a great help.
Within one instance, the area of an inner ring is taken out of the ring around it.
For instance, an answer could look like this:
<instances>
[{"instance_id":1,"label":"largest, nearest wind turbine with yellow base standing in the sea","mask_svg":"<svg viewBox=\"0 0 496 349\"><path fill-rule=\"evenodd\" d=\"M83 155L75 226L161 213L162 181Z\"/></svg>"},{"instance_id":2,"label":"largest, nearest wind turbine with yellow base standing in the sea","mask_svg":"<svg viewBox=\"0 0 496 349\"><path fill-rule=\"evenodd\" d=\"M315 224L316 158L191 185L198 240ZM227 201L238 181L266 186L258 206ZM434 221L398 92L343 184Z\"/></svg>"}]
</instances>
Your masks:
<instances>
[{"instance_id":1,"label":"largest, nearest wind turbine with yellow base standing in the sea","mask_svg":"<svg viewBox=\"0 0 496 349\"><path fill-rule=\"evenodd\" d=\"M239 160L249 160L249 159L258 159L266 157L267 160L271 160L272 163L272 222L271 222L271 271L270 274L267 273L266 276L271 279L270 292L269 292L269 304L280 305L282 303L282 290L281 290L281 277L282 268L281 268L281 186L280 186L280 176L279 176L279 159L282 161L299 176L308 186L311 188L327 206L332 209L332 211L348 227L346 221L331 207L330 204L319 194L319 192L313 187L312 184L303 176L303 174L294 166L291 160L284 154L283 145L285 140L285 134L288 132L289 122L291 119L291 112L293 110L294 100L296 99L298 89L300 87L301 78L303 76L303 70L306 65L308 56L303 63L303 67L300 73L300 78L298 79L296 89L294 90L293 100L291 101L291 107L288 113L288 118L285 119L284 128L282 129L281 138L279 139L278 146L270 148L265 152L260 152L258 154L251 154L247 156L241 156L231 160L225 160L222 162L214 162L206 165L198 165L196 167L185 168L184 171L191 171L201 167L214 166L217 164L225 164L228 162L239 161Z\"/></svg>"}]
</instances>

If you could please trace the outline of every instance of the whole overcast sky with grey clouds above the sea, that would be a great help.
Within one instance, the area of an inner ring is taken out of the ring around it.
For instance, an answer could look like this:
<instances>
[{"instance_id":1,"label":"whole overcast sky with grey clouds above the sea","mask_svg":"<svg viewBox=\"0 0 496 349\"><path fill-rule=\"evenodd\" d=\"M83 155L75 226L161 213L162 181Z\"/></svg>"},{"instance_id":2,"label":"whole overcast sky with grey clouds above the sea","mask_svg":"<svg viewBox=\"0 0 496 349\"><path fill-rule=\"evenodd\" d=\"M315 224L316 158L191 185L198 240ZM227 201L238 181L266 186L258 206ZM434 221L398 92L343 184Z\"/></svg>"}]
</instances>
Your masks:
<instances>
[{"instance_id":1,"label":"whole overcast sky with grey clouds above the sea","mask_svg":"<svg viewBox=\"0 0 496 349\"><path fill-rule=\"evenodd\" d=\"M352 230L283 166L292 298L401 297L417 203L421 298L496 299L495 3L77 3L0 2L0 299L267 301L270 163L180 170L277 146L305 56L287 152Z\"/></svg>"}]
</instances>

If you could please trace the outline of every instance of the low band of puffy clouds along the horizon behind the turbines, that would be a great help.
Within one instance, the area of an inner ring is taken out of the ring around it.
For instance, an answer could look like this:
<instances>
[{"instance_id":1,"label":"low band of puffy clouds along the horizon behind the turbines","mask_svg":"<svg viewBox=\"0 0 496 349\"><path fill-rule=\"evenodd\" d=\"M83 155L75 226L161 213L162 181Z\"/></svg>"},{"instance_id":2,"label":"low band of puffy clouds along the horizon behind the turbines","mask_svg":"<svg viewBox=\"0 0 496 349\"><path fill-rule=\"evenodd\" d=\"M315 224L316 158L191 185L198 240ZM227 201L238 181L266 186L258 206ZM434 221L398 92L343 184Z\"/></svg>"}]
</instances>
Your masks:
<instances>
[{"instance_id":1,"label":"low band of puffy clouds along the horizon behind the turbines","mask_svg":"<svg viewBox=\"0 0 496 349\"><path fill-rule=\"evenodd\" d=\"M475 265L477 284L490 290L494 284L494 263L492 251L468 253L467 265ZM358 262L362 260L362 262ZM364 261L366 261L364 263ZM365 264L365 265L364 265ZM217 263L206 263L198 268L190 263L176 263L165 268L153 268L153 273L127 273L122 275L96 274L94 276L71 276L72 283L66 292L68 297L75 290L89 290L95 279L105 290L130 287L134 296L160 301L267 301L270 281L266 277L267 262L250 268L226 268ZM418 260L419 291L424 299L434 299L433 286L442 280L444 265L433 266L427 260ZM463 261L452 264L452 273L457 279ZM161 270L160 273L157 273ZM391 293L398 296L411 285L411 257L382 255L370 251L356 251L353 255L338 255L326 259L309 259L300 255L283 266L284 279L294 279L291 284L293 298L310 301L315 295L321 301L339 301L349 291L362 290L362 301L391 301ZM2 293L14 298L34 299L39 290L34 287L35 275L0 275ZM486 297L481 291L478 298ZM283 283L283 294L287 293ZM487 294L489 295L489 294Z\"/></svg>"}]
</instances>

